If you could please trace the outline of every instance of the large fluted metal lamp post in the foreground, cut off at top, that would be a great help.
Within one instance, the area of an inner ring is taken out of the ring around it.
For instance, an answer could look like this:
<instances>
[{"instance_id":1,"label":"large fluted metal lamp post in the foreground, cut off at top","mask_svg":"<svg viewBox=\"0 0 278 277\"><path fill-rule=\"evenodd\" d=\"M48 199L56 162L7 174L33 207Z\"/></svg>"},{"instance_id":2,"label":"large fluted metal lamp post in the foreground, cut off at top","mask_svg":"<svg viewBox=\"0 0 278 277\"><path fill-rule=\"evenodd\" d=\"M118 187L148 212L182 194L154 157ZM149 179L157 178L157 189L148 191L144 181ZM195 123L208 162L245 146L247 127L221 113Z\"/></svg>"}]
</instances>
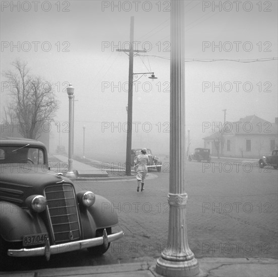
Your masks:
<instances>
[{"instance_id":1,"label":"large fluted metal lamp post in the foreground, cut off at top","mask_svg":"<svg viewBox=\"0 0 278 277\"><path fill-rule=\"evenodd\" d=\"M175 277L194 276L199 265L187 242L185 215L184 1L171 4L169 230L168 247L157 260L156 271Z\"/></svg>"}]
</instances>

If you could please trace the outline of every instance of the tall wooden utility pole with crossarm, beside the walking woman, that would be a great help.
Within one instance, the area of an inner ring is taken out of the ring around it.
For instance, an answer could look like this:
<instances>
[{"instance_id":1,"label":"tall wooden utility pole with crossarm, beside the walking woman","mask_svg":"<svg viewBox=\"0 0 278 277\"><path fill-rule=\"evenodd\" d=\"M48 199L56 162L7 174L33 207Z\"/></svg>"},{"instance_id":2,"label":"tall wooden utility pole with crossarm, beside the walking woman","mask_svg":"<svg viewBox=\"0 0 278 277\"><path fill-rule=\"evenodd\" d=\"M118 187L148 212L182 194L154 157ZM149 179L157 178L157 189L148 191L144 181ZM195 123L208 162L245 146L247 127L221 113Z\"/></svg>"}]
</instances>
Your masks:
<instances>
[{"instance_id":1,"label":"tall wooden utility pole with crossarm, beside the walking woman","mask_svg":"<svg viewBox=\"0 0 278 277\"><path fill-rule=\"evenodd\" d=\"M130 17L130 47L129 49L117 49L119 52L129 52L128 71L128 104L127 104L127 132L126 132L126 159L125 175L131 175L131 142L132 142L132 96L133 96L133 53L146 52L145 50L134 50L134 17Z\"/></svg>"}]
</instances>

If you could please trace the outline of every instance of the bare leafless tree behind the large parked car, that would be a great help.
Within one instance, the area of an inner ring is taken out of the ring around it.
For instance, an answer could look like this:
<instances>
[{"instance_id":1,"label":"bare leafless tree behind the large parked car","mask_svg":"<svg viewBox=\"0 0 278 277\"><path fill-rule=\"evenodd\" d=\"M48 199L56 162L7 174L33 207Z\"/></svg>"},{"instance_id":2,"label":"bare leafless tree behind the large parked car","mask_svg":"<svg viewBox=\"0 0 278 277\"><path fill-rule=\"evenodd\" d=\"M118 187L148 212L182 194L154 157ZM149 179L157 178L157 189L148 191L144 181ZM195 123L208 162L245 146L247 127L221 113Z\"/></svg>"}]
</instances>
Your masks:
<instances>
[{"instance_id":1,"label":"bare leafless tree behind the large parked car","mask_svg":"<svg viewBox=\"0 0 278 277\"><path fill-rule=\"evenodd\" d=\"M15 70L3 74L11 87L11 102L4 110L6 120L19 124L23 137L36 139L43 124L53 119L58 101L49 82L29 74L27 62L17 59L12 65Z\"/></svg>"}]
</instances>

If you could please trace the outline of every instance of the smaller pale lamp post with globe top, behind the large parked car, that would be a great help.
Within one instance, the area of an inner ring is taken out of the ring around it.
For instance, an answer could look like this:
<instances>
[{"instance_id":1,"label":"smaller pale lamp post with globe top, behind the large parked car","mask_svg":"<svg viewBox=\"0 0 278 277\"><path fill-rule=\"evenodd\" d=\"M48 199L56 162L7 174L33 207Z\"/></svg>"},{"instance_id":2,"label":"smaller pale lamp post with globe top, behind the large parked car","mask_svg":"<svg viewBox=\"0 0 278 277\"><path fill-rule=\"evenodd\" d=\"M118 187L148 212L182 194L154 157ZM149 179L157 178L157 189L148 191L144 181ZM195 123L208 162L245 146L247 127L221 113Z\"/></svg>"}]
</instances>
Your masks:
<instances>
[{"instance_id":1,"label":"smaller pale lamp post with globe top, behind the large parked car","mask_svg":"<svg viewBox=\"0 0 278 277\"><path fill-rule=\"evenodd\" d=\"M69 84L66 88L69 103L68 112L68 171L65 176L68 178L75 178L75 173L73 171L73 152L74 152L74 113L73 113L73 103L74 103L74 91L72 84Z\"/></svg>"}]
</instances>

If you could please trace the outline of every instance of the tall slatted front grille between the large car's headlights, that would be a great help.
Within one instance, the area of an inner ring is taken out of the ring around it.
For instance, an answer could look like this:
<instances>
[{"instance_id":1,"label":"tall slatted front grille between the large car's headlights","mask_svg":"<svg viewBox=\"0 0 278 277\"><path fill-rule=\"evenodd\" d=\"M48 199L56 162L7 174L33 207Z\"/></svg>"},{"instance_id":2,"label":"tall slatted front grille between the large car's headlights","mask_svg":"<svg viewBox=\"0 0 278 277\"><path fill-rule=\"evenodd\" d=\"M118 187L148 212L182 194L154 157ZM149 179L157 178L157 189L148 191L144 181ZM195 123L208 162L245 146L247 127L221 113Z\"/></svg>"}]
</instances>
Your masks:
<instances>
[{"instance_id":1,"label":"tall slatted front grille between the large car's headlights","mask_svg":"<svg viewBox=\"0 0 278 277\"><path fill-rule=\"evenodd\" d=\"M79 240L79 217L72 185L52 185L44 192L55 244Z\"/></svg>"}]
</instances>

